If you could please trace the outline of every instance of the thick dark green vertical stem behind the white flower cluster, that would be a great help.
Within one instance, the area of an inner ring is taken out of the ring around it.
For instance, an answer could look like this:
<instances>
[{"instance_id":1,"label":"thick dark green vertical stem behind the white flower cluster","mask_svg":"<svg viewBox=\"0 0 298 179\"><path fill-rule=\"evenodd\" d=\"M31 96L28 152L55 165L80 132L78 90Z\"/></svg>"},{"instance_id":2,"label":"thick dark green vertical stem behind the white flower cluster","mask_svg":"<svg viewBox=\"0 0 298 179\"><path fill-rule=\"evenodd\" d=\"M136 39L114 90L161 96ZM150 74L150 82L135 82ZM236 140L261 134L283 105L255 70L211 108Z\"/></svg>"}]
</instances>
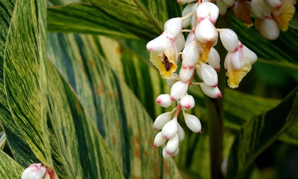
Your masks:
<instances>
[{"instance_id":1,"label":"thick dark green vertical stem behind the white flower cluster","mask_svg":"<svg viewBox=\"0 0 298 179\"><path fill-rule=\"evenodd\" d=\"M227 12L225 16L219 16L216 28L229 28L231 12ZM212 179L221 179L221 163L223 160L223 120L224 120L224 90L226 86L226 70L224 69L224 59L227 51L222 45L220 39L215 46L221 57L221 71L218 73L218 88L222 97L213 99L206 97L207 116L208 116L208 133L210 144L211 159L211 177Z\"/></svg>"}]
</instances>

